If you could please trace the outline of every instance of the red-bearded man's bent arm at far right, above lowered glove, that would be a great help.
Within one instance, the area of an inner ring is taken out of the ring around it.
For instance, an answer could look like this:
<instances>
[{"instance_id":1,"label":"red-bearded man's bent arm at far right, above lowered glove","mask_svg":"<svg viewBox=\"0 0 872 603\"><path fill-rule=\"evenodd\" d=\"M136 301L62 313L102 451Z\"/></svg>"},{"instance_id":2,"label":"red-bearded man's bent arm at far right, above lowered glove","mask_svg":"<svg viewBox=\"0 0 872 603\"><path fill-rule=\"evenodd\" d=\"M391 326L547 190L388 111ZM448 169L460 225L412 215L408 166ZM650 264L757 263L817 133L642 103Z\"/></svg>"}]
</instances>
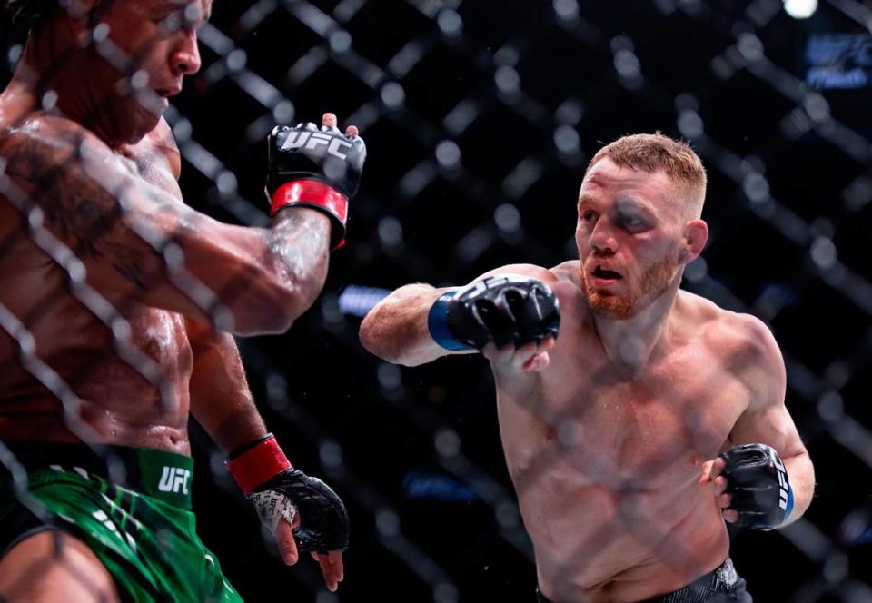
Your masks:
<instances>
[{"instance_id":1,"label":"red-bearded man's bent arm at far right, above lowered glove","mask_svg":"<svg viewBox=\"0 0 872 603\"><path fill-rule=\"evenodd\" d=\"M756 318L743 316L742 320L748 341L748 362L743 364L751 400L729 440L731 446L761 442L778 450L793 489L793 510L779 526L783 527L801 517L811 504L815 468L785 407L787 374L778 343Z\"/></svg>"}]
</instances>

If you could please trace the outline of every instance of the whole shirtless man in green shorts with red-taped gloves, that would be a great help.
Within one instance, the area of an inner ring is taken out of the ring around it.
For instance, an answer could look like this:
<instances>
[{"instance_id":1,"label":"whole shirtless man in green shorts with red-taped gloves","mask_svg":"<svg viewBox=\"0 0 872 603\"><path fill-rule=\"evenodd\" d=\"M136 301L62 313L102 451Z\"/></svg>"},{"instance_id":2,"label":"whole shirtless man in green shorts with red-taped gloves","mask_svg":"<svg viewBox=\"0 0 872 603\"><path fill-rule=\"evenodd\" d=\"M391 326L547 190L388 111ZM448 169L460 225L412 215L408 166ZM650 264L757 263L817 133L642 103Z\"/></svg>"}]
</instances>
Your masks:
<instances>
[{"instance_id":1,"label":"whole shirtless man in green shorts with red-taped gloves","mask_svg":"<svg viewBox=\"0 0 872 603\"><path fill-rule=\"evenodd\" d=\"M292 468L216 327L286 331L315 300L356 128L277 127L272 228L215 222L182 202L161 117L212 0L5 4L29 35L0 94L0 598L241 600L195 532L189 413L284 562L312 551L335 590L342 500Z\"/></svg>"}]
</instances>

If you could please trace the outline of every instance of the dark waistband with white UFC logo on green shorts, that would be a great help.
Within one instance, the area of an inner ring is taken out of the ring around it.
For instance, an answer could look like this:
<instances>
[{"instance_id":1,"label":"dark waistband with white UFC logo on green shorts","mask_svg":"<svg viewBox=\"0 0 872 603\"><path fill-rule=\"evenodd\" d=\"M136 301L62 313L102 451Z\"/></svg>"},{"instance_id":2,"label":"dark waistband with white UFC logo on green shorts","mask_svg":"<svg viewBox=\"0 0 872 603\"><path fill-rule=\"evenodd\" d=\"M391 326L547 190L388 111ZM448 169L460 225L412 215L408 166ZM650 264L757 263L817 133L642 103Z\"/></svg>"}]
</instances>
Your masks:
<instances>
[{"instance_id":1,"label":"dark waistband with white UFC logo on green shorts","mask_svg":"<svg viewBox=\"0 0 872 603\"><path fill-rule=\"evenodd\" d=\"M2 440L0 444L28 472L48 469L74 472L84 479L96 476L173 507L192 508L193 459L189 456L110 444L34 440Z\"/></svg>"}]
</instances>

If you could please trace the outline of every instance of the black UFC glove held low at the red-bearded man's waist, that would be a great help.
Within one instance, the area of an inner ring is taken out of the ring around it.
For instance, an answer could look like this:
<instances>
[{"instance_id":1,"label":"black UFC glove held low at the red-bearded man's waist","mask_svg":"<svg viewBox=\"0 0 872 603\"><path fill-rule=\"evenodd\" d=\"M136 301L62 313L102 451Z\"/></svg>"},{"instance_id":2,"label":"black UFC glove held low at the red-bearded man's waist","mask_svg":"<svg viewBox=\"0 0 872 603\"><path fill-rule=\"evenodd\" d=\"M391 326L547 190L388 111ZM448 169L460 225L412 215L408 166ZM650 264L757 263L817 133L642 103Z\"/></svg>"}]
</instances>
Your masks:
<instances>
[{"instance_id":1,"label":"black UFC glove held low at the red-bearded man's waist","mask_svg":"<svg viewBox=\"0 0 872 603\"><path fill-rule=\"evenodd\" d=\"M721 472L731 494L728 509L738 511L736 525L773 529L793 510L793 489L778 452L766 444L743 444L720 455Z\"/></svg>"}]
</instances>

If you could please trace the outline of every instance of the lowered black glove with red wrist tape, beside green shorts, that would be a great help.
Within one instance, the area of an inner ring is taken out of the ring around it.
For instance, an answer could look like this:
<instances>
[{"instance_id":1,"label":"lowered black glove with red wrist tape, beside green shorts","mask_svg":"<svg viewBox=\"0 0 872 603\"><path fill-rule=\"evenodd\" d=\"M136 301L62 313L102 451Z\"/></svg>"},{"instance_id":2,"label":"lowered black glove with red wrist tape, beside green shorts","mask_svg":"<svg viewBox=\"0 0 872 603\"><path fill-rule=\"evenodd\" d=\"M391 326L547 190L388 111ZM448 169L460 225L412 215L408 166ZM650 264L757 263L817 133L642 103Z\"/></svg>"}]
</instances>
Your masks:
<instances>
[{"instance_id":1,"label":"lowered black glove with red wrist tape, beside green shorts","mask_svg":"<svg viewBox=\"0 0 872 603\"><path fill-rule=\"evenodd\" d=\"M282 519L293 525L299 510L300 528L293 532L297 549L326 553L348 548L342 499L321 479L293 469L272 433L234 452L227 468L271 534Z\"/></svg>"}]
</instances>

